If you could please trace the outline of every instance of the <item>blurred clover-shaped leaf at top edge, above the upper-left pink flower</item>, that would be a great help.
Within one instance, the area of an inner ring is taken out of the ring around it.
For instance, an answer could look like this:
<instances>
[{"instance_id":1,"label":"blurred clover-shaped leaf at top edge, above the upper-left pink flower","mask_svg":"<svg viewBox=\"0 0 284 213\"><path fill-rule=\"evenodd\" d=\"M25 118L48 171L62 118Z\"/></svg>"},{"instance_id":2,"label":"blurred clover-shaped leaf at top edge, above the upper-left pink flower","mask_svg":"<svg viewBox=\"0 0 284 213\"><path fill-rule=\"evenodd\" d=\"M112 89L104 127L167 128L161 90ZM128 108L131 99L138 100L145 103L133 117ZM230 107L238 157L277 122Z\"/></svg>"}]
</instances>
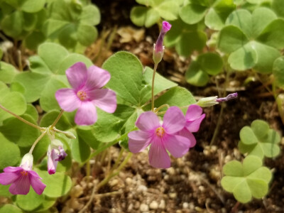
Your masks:
<instances>
[{"instance_id":1,"label":"blurred clover-shaped leaf at top edge, above the upper-left pink flower","mask_svg":"<svg viewBox=\"0 0 284 213\"><path fill-rule=\"evenodd\" d=\"M74 49L78 44L87 46L97 39L100 13L94 4L82 5L80 1L53 1L49 6L50 18L43 31L50 40L59 40L65 48Z\"/></svg>"}]
</instances>

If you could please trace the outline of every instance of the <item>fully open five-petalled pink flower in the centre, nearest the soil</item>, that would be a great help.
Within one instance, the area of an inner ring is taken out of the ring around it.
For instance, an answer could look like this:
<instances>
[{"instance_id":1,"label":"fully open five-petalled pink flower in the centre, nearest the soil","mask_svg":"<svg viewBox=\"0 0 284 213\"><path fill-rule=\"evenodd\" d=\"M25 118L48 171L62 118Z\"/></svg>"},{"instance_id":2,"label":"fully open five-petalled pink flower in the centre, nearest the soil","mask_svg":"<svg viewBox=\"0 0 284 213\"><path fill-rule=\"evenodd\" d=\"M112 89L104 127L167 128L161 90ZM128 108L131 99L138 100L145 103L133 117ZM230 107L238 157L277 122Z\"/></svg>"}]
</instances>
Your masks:
<instances>
[{"instance_id":1,"label":"fully open five-petalled pink flower in the centre, nearest the soil","mask_svg":"<svg viewBox=\"0 0 284 213\"><path fill-rule=\"evenodd\" d=\"M170 168L170 157L180 158L190 148L190 140L178 135L185 127L185 116L178 107L170 107L166 111L163 124L152 111L141 114L136 126L138 131L131 131L129 136L129 150L132 153L143 151L151 145L149 163L155 168Z\"/></svg>"}]
</instances>

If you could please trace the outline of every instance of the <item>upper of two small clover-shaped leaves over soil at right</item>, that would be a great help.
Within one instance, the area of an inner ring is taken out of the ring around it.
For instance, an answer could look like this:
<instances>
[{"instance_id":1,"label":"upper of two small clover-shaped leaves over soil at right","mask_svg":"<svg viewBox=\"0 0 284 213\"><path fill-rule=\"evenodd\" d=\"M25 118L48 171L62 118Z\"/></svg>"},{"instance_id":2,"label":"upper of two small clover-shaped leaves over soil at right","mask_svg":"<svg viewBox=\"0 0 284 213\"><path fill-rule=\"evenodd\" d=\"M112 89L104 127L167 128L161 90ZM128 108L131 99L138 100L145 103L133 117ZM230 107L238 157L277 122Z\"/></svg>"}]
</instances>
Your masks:
<instances>
[{"instance_id":1,"label":"upper of two small clover-shaped leaves over soil at right","mask_svg":"<svg viewBox=\"0 0 284 213\"><path fill-rule=\"evenodd\" d=\"M278 143L280 135L269 129L265 121L255 120L250 126L244 126L240 131L239 149L241 153L249 153L259 158L273 158L280 153Z\"/></svg>"}]
</instances>

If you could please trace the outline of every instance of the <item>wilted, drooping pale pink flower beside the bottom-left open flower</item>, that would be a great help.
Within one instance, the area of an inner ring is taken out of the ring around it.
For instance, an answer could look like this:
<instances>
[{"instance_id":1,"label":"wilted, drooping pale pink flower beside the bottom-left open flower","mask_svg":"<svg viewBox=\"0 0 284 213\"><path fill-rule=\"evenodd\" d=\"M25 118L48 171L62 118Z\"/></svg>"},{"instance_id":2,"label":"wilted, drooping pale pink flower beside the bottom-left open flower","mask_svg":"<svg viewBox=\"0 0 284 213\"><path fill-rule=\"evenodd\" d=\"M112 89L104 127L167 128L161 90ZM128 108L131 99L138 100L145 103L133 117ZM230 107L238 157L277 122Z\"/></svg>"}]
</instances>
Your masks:
<instances>
[{"instance_id":1,"label":"wilted, drooping pale pink flower beside the bottom-left open flower","mask_svg":"<svg viewBox=\"0 0 284 213\"><path fill-rule=\"evenodd\" d=\"M58 161L64 160L67 156L63 149L61 141L54 139L48 146L48 174L55 174L58 167Z\"/></svg>"}]
</instances>

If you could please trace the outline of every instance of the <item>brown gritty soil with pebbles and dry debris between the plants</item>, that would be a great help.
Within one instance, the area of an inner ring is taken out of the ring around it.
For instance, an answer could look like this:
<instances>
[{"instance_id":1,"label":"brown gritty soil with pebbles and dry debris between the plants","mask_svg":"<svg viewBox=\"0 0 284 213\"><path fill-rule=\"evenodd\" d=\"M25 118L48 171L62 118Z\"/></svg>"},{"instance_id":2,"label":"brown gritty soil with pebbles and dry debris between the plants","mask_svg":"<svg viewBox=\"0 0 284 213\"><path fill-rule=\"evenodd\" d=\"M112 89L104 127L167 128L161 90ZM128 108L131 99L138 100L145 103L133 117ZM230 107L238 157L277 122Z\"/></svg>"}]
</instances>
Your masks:
<instances>
[{"instance_id":1,"label":"brown gritty soil with pebbles and dry debris between the plants","mask_svg":"<svg viewBox=\"0 0 284 213\"><path fill-rule=\"evenodd\" d=\"M102 13L102 21L98 26L102 33L87 49L86 55L97 65L102 65L112 53L127 50L137 55L143 65L153 67L153 43L158 38L159 29L158 26L142 28L143 33L138 33L138 41L135 40L133 34L141 28L131 23L129 13L136 1L96 1L94 4ZM131 39L122 43L124 33L119 35L116 32L129 27L131 30L126 32L130 32L127 36ZM219 96L219 92L228 94L229 91L238 92L239 97L224 103L223 111L221 105L204 109L206 117L200 131L195 133L197 145L183 158L172 158L171 168L163 170L151 167L147 151L132 155L119 175L95 193L85 212L284 212L284 155L265 160L264 164L273 170L273 180L268 195L261 200L238 204L234 196L225 192L220 185L222 166L229 160L244 158L237 146L242 127L250 125L255 119L263 119L283 135L283 124L275 99L266 95L267 90L259 81L242 86L246 77L251 75L249 72L229 75L226 89L224 75L212 78L206 87L192 87L185 82L184 77L189 64L189 58L178 56L173 49L166 49L158 72L178 82L180 86L187 87L197 98ZM215 131L216 137L212 141ZM280 148L283 153L283 139ZM90 177L84 177L85 168L81 168L79 173L74 172L72 180L75 186L72 192L68 197L58 200L53 210L79 212L89 201L93 187L104 179L109 166L114 165L119 151L119 146L113 146L108 153L96 158L97 163L92 160ZM126 155L124 153L124 158Z\"/></svg>"}]
</instances>

